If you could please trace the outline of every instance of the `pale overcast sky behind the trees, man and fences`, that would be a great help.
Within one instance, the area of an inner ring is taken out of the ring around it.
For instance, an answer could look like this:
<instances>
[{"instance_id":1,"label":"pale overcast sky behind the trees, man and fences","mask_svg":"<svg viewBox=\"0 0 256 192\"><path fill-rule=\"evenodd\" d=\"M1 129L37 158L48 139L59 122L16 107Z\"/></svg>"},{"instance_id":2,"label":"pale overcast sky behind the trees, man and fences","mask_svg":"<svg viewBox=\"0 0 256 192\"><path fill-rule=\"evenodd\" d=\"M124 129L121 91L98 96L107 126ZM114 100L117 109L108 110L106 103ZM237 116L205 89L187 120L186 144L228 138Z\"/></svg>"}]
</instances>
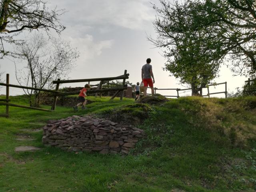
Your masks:
<instances>
[{"instance_id":1,"label":"pale overcast sky behind the trees, man and fences","mask_svg":"<svg viewBox=\"0 0 256 192\"><path fill-rule=\"evenodd\" d=\"M156 13L150 2L159 5L158 0L50 0L49 8L57 6L58 9L66 11L60 18L60 22L66 26L60 37L70 41L70 44L80 52L69 79L120 76L127 70L130 74L128 80L135 84L141 81L142 65L146 63L147 58L151 58L156 81L154 87L183 88L178 79L162 69L165 63L161 55L163 50L154 48L146 38L147 35L156 36L152 24ZM0 71L4 72L4 76L6 73L10 74L11 84L18 84L14 63L10 58L0 60ZM232 92L235 88L242 87L245 80L247 78L243 76L232 76L230 70L222 66L220 77L214 81L227 82L228 92ZM84 84L61 85L64 86ZM210 92L224 90L224 85L210 87ZM175 91L159 90L158 93L176 95ZM207 90L204 90L203 94L206 93ZM4 88L0 89L0 94L5 94ZM23 91L10 88L10 94L23 94ZM191 92L185 92L180 95L190 94ZM214 96L224 97L224 94Z\"/></svg>"}]
</instances>

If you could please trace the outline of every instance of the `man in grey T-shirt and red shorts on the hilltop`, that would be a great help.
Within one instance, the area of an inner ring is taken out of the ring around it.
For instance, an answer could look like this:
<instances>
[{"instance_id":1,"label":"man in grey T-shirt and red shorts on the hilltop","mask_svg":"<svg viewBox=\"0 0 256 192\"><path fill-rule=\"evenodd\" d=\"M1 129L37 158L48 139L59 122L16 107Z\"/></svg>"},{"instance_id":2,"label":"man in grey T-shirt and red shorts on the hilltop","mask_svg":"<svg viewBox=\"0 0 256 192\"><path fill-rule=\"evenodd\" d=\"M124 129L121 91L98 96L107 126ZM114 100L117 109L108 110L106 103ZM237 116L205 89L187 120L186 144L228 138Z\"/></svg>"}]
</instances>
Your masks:
<instances>
[{"instance_id":1,"label":"man in grey T-shirt and red shorts on the hilltop","mask_svg":"<svg viewBox=\"0 0 256 192\"><path fill-rule=\"evenodd\" d=\"M152 95L154 94L153 83L155 83L154 75L152 72L152 65L150 65L151 59L148 58L146 62L147 63L144 66L142 66L141 69L141 78L144 84L144 96L147 96L148 86L151 88ZM151 77L153 78L153 81Z\"/></svg>"}]
</instances>

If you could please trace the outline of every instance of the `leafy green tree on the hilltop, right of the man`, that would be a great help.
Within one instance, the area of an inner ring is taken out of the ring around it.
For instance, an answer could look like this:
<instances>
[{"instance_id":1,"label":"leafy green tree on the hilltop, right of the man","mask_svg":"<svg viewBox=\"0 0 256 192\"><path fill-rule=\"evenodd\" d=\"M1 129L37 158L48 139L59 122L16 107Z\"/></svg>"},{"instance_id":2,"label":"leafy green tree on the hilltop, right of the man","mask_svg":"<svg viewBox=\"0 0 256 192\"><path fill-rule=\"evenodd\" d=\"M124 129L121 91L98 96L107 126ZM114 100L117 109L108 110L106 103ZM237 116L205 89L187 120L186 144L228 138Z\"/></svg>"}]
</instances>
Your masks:
<instances>
[{"instance_id":1,"label":"leafy green tree on the hilltop, right of the man","mask_svg":"<svg viewBox=\"0 0 256 192\"><path fill-rule=\"evenodd\" d=\"M218 75L222 62L219 36L204 28L208 18L200 1L160 3L161 8L153 5L157 13L153 24L158 36L148 40L164 48L164 69L180 78L182 84L191 86L192 95L202 95L202 88Z\"/></svg>"}]
</instances>

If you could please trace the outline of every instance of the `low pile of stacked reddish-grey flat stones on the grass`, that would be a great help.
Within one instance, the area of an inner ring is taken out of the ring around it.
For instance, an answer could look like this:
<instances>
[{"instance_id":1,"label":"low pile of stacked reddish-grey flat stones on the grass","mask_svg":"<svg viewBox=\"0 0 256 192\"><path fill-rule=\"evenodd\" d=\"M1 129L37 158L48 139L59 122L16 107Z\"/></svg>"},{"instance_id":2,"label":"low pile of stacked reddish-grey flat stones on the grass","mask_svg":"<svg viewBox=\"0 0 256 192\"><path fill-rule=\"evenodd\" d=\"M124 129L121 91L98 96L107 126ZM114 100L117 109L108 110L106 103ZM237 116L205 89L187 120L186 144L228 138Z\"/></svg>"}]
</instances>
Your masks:
<instances>
[{"instance_id":1,"label":"low pile of stacked reddish-grey flat stones on the grass","mask_svg":"<svg viewBox=\"0 0 256 192\"><path fill-rule=\"evenodd\" d=\"M50 120L44 126L42 142L62 150L100 152L101 154L128 154L140 138L143 130L91 116L72 116Z\"/></svg>"}]
</instances>

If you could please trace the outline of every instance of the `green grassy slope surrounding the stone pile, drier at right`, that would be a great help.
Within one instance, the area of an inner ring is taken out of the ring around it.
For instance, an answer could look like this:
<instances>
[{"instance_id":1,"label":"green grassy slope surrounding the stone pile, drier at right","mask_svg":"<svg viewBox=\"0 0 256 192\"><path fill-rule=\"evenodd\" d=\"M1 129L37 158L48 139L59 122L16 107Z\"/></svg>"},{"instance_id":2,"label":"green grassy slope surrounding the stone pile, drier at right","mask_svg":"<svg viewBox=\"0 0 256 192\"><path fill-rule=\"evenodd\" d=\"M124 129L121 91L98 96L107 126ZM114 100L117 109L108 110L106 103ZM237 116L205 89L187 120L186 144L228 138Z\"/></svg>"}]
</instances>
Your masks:
<instances>
[{"instance_id":1,"label":"green grassy slope surrounding the stone pile, drier at right","mask_svg":"<svg viewBox=\"0 0 256 192\"><path fill-rule=\"evenodd\" d=\"M76 114L109 112L134 102L91 99L95 102ZM22 96L11 100L27 103ZM148 138L128 156L75 154L44 147L42 132L22 129L40 128L49 119L72 116L72 109L57 107L49 113L10 107L11 118L0 119L0 192L254 191L255 101L180 98L154 106L150 118L140 125ZM37 139L15 140L22 133ZM16 146L23 145L43 149L14 152Z\"/></svg>"}]
</instances>

